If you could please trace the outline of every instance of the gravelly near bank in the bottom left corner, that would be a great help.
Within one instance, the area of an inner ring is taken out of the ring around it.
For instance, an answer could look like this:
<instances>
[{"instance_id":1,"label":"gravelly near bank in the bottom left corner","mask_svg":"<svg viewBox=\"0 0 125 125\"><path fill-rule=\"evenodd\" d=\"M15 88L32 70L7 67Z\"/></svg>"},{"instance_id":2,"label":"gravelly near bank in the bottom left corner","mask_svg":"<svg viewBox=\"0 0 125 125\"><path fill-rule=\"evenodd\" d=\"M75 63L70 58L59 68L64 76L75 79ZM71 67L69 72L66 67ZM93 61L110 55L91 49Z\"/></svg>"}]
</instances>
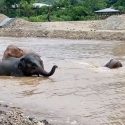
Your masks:
<instances>
[{"instance_id":1,"label":"gravelly near bank in the bottom left corner","mask_svg":"<svg viewBox=\"0 0 125 125\"><path fill-rule=\"evenodd\" d=\"M25 116L20 108L0 103L0 125L50 125L46 120L38 121Z\"/></svg>"}]
</instances>

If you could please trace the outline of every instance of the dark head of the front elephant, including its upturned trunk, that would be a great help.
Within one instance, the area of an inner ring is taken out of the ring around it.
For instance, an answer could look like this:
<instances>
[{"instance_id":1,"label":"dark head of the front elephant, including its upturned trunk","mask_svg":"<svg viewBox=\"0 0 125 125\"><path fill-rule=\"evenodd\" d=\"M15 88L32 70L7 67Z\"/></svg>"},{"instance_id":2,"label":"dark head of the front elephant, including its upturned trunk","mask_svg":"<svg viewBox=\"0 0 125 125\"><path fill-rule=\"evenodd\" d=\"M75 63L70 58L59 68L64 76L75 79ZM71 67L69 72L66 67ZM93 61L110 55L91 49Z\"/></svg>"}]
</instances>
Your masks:
<instances>
[{"instance_id":1,"label":"dark head of the front elephant, including its upturned trunk","mask_svg":"<svg viewBox=\"0 0 125 125\"><path fill-rule=\"evenodd\" d=\"M54 74L57 66L54 65L50 72L44 70L43 61L40 56L35 53L29 53L20 58L18 67L25 76L42 75L49 77Z\"/></svg>"}]
</instances>

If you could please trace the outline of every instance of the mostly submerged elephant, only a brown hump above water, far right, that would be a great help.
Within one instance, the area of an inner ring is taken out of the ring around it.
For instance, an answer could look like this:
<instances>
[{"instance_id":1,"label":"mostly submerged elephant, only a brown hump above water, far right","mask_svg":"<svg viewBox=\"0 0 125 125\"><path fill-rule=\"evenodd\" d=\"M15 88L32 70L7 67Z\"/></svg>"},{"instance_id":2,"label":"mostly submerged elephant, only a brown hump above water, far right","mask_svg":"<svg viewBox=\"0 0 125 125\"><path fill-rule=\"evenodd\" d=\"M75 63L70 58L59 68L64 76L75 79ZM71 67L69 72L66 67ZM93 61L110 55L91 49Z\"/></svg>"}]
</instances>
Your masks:
<instances>
[{"instance_id":1,"label":"mostly submerged elephant, only a brown hump above water, far right","mask_svg":"<svg viewBox=\"0 0 125 125\"><path fill-rule=\"evenodd\" d=\"M108 67L110 69L115 69L115 68L119 68L122 67L122 63L119 60L116 59L111 59L106 65L105 67Z\"/></svg>"}]
</instances>

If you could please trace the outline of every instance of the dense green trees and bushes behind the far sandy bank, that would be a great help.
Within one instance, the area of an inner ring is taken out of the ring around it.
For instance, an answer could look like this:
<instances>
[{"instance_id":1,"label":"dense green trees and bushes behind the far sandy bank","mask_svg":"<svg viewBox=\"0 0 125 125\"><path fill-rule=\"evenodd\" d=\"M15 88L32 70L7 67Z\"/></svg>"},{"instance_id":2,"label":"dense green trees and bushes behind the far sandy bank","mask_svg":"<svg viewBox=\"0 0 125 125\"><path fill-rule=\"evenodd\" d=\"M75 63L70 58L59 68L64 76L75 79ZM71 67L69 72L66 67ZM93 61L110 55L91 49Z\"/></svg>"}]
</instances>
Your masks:
<instances>
[{"instance_id":1,"label":"dense green trees and bushes behind the far sandy bank","mask_svg":"<svg viewBox=\"0 0 125 125\"><path fill-rule=\"evenodd\" d=\"M33 3L50 4L34 8ZM12 7L14 5L14 7ZM94 11L114 7L125 12L124 0L0 0L0 12L30 21L77 21L97 19Z\"/></svg>"}]
</instances>

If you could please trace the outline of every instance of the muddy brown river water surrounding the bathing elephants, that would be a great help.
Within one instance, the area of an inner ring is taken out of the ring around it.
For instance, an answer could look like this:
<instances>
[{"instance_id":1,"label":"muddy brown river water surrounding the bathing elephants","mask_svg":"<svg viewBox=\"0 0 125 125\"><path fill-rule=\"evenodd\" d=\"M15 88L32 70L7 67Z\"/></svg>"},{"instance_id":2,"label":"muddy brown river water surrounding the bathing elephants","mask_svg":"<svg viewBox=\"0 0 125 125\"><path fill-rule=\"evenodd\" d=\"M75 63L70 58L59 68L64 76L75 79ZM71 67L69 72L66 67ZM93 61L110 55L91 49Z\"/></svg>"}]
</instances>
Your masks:
<instances>
[{"instance_id":1,"label":"muddy brown river water surrounding the bathing elephants","mask_svg":"<svg viewBox=\"0 0 125 125\"><path fill-rule=\"evenodd\" d=\"M0 38L0 57L9 44L41 55L49 78L0 77L0 101L14 104L54 125L125 123L125 43L122 41ZM111 58L124 67L107 69Z\"/></svg>"}]
</instances>

